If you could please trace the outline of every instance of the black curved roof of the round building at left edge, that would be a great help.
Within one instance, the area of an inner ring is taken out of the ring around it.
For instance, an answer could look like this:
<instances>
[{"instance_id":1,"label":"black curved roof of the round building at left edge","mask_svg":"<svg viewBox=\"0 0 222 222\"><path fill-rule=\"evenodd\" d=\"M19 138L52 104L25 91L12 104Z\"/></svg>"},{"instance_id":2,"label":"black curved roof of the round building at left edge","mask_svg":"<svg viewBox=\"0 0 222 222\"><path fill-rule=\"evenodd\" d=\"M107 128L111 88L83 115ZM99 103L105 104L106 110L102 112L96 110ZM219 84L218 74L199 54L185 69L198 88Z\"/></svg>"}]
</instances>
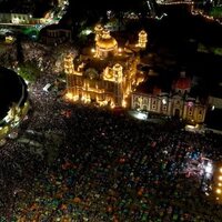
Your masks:
<instances>
[{"instance_id":1,"label":"black curved roof of the round building at left edge","mask_svg":"<svg viewBox=\"0 0 222 222\"><path fill-rule=\"evenodd\" d=\"M28 97L27 84L14 71L0 67L0 120L12 103L23 105Z\"/></svg>"}]
</instances>

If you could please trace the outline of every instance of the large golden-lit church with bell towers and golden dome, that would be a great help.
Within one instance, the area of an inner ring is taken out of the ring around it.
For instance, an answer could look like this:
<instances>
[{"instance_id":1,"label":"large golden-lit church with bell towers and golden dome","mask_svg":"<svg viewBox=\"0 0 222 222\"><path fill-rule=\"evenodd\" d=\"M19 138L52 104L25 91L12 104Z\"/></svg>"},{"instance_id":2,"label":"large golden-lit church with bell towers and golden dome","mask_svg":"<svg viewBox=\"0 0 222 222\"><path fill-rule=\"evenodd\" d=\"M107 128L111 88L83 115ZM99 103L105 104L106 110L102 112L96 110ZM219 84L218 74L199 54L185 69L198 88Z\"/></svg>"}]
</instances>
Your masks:
<instances>
[{"instance_id":1,"label":"large golden-lit church with bell towers and golden dome","mask_svg":"<svg viewBox=\"0 0 222 222\"><path fill-rule=\"evenodd\" d=\"M140 49L120 48L109 30L100 24L94 33L94 48L84 49L75 59L71 54L64 58L67 98L127 107L132 90L143 81L137 70Z\"/></svg>"}]
</instances>

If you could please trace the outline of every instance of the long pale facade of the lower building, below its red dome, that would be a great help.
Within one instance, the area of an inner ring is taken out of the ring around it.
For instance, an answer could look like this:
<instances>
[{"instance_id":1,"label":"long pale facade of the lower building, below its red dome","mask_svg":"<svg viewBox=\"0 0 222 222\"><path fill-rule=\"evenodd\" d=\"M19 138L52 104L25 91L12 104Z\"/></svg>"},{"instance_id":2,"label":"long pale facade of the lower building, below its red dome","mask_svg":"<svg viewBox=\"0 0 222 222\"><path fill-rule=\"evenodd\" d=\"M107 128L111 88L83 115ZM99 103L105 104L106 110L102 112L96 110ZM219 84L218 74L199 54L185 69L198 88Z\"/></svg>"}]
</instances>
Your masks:
<instances>
[{"instance_id":1,"label":"long pale facade of the lower building, below its red dome","mask_svg":"<svg viewBox=\"0 0 222 222\"><path fill-rule=\"evenodd\" d=\"M169 117L178 117L189 123L201 124L204 122L206 107L193 98L184 99L181 95L162 93L158 95L147 93L132 93L131 108L144 110Z\"/></svg>"}]
</instances>

